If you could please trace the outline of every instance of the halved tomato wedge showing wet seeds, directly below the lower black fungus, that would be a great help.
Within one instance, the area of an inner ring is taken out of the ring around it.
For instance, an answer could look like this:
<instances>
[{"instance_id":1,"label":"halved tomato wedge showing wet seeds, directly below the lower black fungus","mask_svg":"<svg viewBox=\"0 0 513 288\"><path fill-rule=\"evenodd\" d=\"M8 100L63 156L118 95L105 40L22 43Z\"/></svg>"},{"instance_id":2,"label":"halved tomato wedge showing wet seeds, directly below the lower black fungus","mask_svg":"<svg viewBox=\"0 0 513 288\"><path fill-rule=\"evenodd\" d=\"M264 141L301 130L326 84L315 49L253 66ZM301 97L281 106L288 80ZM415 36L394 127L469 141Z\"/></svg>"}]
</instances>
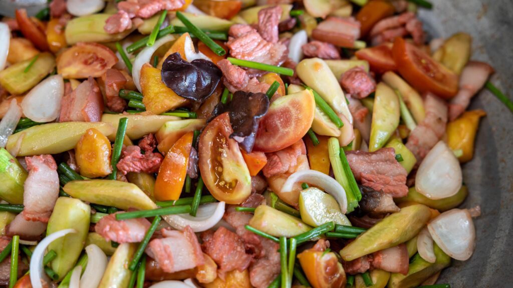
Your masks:
<instances>
[{"instance_id":1,"label":"halved tomato wedge showing wet seeds, directly below the lower black fungus","mask_svg":"<svg viewBox=\"0 0 513 288\"><path fill-rule=\"evenodd\" d=\"M251 176L233 133L228 112L215 117L200 136L200 172L208 191L219 201L240 204L251 194Z\"/></svg>"}]
</instances>

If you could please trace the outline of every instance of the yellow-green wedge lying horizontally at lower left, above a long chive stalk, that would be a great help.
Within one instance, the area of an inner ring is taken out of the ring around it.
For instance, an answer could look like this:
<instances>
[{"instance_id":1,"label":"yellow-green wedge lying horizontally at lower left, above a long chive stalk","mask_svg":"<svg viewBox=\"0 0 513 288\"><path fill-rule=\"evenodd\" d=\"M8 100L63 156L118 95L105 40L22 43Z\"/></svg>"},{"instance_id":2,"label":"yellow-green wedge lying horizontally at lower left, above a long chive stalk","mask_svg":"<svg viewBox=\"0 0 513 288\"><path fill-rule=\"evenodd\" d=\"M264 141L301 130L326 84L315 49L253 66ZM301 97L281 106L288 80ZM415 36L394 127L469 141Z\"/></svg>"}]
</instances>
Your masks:
<instances>
[{"instance_id":1,"label":"yellow-green wedge lying horizontally at lower left, above a long chive stalk","mask_svg":"<svg viewBox=\"0 0 513 288\"><path fill-rule=\"evenodd\" d=\"M64 192L90 203L127 210L150 210L157 205L135 184L117 180L78 180L68 182Z\"/></svg>"}]
</instances>

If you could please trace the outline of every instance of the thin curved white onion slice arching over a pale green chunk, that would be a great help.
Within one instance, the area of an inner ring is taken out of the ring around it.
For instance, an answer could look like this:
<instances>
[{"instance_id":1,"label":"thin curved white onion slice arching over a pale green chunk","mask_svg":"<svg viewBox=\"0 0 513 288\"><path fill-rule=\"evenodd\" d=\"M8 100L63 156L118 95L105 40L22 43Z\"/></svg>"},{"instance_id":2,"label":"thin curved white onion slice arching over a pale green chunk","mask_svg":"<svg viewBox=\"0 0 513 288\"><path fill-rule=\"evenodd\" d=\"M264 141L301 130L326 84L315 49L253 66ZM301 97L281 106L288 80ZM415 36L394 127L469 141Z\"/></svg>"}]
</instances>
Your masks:
<instances>
[{"instance_id":1,"label":"thin curved white onion slice arching over a pale green chunk","mask_svg":"<svg viewBox=\"0 0 513 288\"><path fill-rule=\"evenodd\" d=\"M287 178L287 181L282 186L282 193L292 191L292 187L296 182L306 182L313 184L326 193L330 194L339 202L340 211L343 214L347 212L347 196L344 188L340 185L337 180L329 177L328 175L315 171L315 170L303 170L295 172Z\"/></svg>"}]
</instances>

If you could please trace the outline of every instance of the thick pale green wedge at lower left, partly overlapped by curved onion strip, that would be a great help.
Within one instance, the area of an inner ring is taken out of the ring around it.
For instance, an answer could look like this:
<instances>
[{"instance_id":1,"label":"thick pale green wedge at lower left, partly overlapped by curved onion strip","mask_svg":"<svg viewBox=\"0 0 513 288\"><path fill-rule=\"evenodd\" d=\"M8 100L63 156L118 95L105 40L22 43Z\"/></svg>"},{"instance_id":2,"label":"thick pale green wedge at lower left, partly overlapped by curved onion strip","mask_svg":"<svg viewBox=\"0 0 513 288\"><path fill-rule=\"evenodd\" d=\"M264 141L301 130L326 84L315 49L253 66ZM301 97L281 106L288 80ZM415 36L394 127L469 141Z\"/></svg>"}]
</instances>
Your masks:
<instances>
[{"instance_id":1,"label":"thick pale green wedge at lower left, partly overlapped by curved onion strip","mask_svg":"<svg viewBox=\"0 0 513 288\"><path fill-rule=\"evenodd\" d=\"M51 262L51 267L59 275L59 280L73 269L78 256L82 253L89 232L90 219L91 208L79 199L60 197L55 202L52 215L48 220L46 235L64 229L76 230L76 233L67 234L48 245L48 251L54 250L57 253L57 257Z\"/></svg>"}]
</instances>

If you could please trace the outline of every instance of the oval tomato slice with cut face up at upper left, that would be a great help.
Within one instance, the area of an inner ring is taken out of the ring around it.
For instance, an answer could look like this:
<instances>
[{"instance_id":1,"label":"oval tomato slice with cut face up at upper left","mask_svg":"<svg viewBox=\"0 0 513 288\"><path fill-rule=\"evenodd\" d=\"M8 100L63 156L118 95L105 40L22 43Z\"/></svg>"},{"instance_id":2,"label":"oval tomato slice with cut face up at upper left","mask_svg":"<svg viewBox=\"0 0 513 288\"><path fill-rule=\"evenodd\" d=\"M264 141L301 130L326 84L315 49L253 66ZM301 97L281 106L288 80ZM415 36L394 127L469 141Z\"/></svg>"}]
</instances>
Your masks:
<instances>
[{"instance_id":1,"label":"oval tomato slice with cut face up at upper left","mask_svg":"<svg viewBox=\"0 0 513 288\"><path fill-rule=\"evenodd\" d=\"M81 42L57 56L57 73L67 79L101 77L117 61L106 46Z\"/></svg>"}]
</instances>

